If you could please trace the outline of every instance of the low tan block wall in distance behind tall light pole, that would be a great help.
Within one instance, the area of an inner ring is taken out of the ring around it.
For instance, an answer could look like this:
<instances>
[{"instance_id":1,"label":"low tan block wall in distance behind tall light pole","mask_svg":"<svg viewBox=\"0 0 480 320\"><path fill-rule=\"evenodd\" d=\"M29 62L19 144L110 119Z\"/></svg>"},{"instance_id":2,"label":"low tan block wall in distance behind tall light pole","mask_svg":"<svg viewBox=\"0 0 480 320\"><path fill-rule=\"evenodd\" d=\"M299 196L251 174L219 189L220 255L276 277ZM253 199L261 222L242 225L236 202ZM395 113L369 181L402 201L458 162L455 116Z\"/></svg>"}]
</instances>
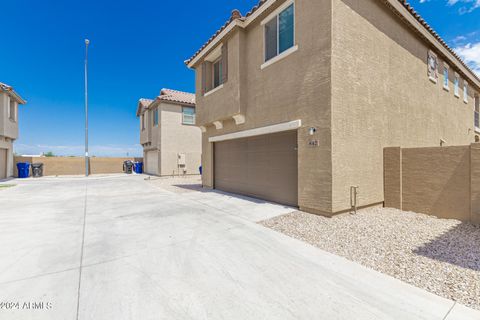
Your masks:
<instances>
[{"instance_id":1,"label":"low tan block wall in distance behind tall light pole","mask_svg":"<svg viewBox=\"0 0 480 320\"><path fill-rule=\"evenodd\" d=\"M90 174L121 173L123 162L126 160L143 161L142 158L90 158ZM43 163L45 176L85 174L83 157L15 157L15 176L18 176L16 169L18 162Z\"/></svg>"}]
</instances>

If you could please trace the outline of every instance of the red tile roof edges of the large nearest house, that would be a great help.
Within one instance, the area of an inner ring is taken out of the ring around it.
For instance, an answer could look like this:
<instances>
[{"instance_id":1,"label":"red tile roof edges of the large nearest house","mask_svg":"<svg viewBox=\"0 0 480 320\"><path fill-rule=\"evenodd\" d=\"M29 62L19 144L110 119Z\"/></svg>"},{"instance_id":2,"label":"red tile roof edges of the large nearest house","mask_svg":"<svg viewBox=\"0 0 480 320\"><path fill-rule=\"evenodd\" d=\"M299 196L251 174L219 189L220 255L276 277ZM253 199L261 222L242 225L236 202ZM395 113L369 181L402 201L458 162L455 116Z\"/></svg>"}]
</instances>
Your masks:
<instances>
[{"instance_id":1,"label":"red tile roof edges of the large nearest house","mask_svg":"<svg viewBox=\"0 0 480 320\"><path fill-rule=\"evenodd\" d=\"M397 0L398 2L400 2L404 7L405 9L407 9L407 11L418 21L420 22L420 24L428 31L430 32L434 37L435 39L438 40L438 42L440 42L440 44L442 44L450 53L453 54L453 56L458 59L458 61L465 67L467 68L468 71L470 71L472 73L472 75L478 80L480 81L480 78L479 76L463 61L463 59L452 49L448 46L448 44L440 37L440 35L438 33L435 32L435 30L433 30L433 28L415 11L415 9L408 3L407 0ZM228 19L225 24L217 31L215 32L215 34L210 37L210 39L208 39L208 41L200 48L198 49L197 52L195 52L195 54L188 60L185 61L185 64L188 65L190 64L190 62L192 62L213 40L215 40L216 37L218 37L218 35L220 33L222 33L223 30L225 30L228 25L233 22L234 20L237 20L237 19L240 19L240 20L245 20L245 18L248 18L249 16L251 16L255 11L257 11L261 6L263 6L265 3L267 2L267 0L260 0L258 2L258 4L256 6L254 6L244 17L241 16L240 12L238 10L234 10L232 12L232 16L230 17L230 19ZM386 0L384 0L385 3ZM390 9L394 10L393 7L389 6ZM407 22L408 23L408 22Z\"/></svg>"}]
</instances>

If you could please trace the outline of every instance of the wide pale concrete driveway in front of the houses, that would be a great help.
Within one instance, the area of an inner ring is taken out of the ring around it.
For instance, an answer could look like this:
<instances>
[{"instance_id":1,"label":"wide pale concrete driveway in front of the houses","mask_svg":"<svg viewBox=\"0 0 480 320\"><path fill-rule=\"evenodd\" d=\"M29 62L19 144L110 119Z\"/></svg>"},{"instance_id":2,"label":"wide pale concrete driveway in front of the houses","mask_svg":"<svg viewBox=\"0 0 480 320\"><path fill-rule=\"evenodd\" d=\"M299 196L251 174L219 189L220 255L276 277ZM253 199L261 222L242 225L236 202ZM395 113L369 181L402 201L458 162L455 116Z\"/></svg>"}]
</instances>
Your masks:
<instances>
[{"instance_id":1,"label":"wide pale concrete driveway in front of the houses","mask_svg":"<svg viewBox=\"0 0 480 320\"><path fill-rule=\"evenodd\" d=\"M144 178L0 189L0 319L480 319L256 224L291 208Z\"/></svg>"}]
</instances>

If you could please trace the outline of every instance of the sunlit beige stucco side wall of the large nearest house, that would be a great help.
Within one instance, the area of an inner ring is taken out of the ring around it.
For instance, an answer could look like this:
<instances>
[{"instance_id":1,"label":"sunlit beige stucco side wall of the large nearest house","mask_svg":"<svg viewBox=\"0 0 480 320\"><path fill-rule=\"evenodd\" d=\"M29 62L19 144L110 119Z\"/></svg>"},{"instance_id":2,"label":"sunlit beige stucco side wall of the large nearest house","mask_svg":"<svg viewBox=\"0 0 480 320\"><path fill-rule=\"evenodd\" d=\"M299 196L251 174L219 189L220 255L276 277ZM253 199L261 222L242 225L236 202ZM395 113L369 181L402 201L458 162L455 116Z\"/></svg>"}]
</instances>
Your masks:
<instances>
[{"instance_id":1,"label":"sunlit beige stucco side wall of the large nearest house","mask_svg":"<svg viewBox=\"0 0 480 320\"><path fill-rule=\"evenodd\" d=\"M437 84L428 79L430 48L382 1L332 3L332 210L339 212L350 208L353 185L360 205L384 201L384 147L473 142L474 102L454 97L453 84L443 90L442 68ZM454 72L450 65L452 81Z\"/></svg>"}]
</instances>

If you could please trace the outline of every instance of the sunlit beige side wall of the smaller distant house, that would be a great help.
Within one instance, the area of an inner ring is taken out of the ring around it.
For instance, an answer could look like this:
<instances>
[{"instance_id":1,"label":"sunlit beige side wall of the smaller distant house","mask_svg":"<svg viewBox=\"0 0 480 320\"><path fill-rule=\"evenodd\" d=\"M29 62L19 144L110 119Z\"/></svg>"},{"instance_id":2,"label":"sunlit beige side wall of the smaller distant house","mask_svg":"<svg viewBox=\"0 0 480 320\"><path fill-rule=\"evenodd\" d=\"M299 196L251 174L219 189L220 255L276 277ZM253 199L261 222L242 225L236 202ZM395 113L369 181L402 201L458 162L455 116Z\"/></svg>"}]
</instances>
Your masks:
<instances>
[{"instance_id":1,"label":"sunlit beige side wall of the smaller distant house","mask_svg":"<svg viewBox=\"0 0 480 320\"><path fill-rule=\"evenodd\" d=\"M200 128L182 124L182 106L162 103L161 105L161 175L182 175L178 155L185 154L186 174L199 174L202 158L202 133Z\"/></svg>"}]
</instances>

